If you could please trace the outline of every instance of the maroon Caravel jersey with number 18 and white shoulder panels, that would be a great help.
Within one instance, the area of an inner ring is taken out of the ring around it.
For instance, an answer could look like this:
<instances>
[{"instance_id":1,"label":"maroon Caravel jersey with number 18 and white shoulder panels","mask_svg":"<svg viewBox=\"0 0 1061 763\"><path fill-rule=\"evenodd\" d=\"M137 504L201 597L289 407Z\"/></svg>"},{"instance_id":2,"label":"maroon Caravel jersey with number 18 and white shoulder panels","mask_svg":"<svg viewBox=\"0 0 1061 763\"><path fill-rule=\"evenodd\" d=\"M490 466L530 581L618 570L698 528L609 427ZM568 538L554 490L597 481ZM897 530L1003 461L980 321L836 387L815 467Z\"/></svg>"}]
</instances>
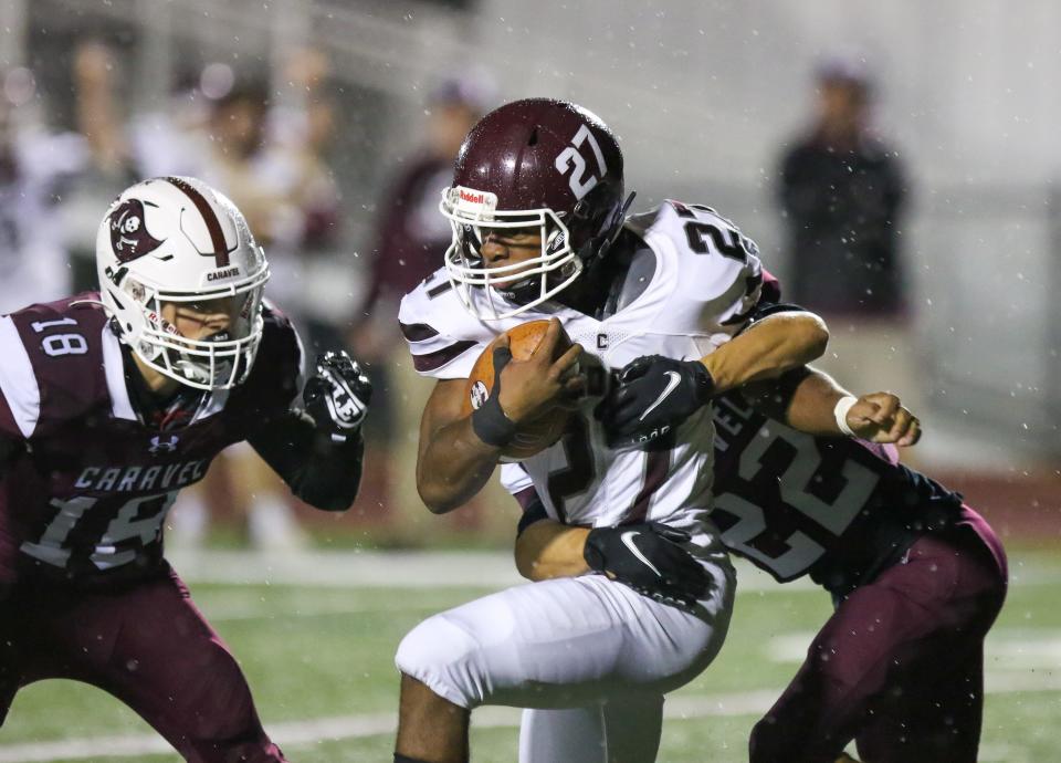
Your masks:
<instances>
[{"instance_id":1,"label":"maroon Caravel jersey with number 18 and white shoulder panels","mask_svg":"<svg viewBox=\"0 0 1061 763\"><path fill-rule=\"evenodd\" d=\"M95 293L0 317L0 583L57 574L95 584L153 571L177 492L225 447L284 415L302 351L265 307L254 368L234 389L204 394L182 426L144 424L123 348Z\"/></svg>"}]
</instances>

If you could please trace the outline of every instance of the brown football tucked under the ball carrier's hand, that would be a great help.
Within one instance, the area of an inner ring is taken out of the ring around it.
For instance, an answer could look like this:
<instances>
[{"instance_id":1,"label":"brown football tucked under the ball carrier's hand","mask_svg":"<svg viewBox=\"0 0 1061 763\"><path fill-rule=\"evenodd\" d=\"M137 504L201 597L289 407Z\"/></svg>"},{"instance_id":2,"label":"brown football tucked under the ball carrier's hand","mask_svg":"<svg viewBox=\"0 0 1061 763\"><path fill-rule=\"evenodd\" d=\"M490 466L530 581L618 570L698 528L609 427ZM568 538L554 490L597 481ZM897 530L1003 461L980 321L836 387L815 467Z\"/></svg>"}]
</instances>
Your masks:
<instances>
[{"instance_id":1,"label":"brown football tucked under the ball carrier's hand","mask_svg":"<svg viewBox=\"0 0 1061 763\"><path fill-rule=\"evenodd\" d=\"M505 334L508 335L508 347L512 349L513 360L526 360L534 353L535 348L545 337L545 332L549 327L548 321L528 321L513 326ZM498 337L501 338L501 337ZM464 395L463 412L470 416L473 410L479 408L493 391L494 386L494 347L497 339L490 343L483 351L472 373L468 378L468 388ZM571 339L567 332L561 330L560 339L556 343L556 352L553 359L558 358L568 347L571 346ZM567 418L570 411L563 408L553 408L547 410L538 418L532 421L525 421L519 426L516 438L502 451L502 458L506 461L521 461L539 453L550 445L560 439L564 430L567 428Z\"/></svg>"}]
</instances>

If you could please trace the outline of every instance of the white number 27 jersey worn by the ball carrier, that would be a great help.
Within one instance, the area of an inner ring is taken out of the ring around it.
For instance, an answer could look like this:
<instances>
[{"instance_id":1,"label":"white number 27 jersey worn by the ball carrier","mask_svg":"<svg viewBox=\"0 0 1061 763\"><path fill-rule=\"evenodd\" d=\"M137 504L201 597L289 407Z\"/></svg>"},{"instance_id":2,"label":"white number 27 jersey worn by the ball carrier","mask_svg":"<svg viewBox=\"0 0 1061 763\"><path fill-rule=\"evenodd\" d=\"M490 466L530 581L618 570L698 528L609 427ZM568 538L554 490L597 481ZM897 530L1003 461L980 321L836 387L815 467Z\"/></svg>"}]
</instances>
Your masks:
<instances>
[{"instance_id":1,"label":"white number 27 jersey worn by the ball carrier","mask_svg":"<svg viewBox=\"0 0 1061 763\"><path fill-rule=\"evenodd\" d=\"M732 222L707 207L668 201L631 217L626 228L654 255L654 269L639 276L631 268L626 286L633 286L637 296L603 320L547 302L486 323L465 311L445 271L435 272L406 295L399 313L417 370L438 379L468 378L498 334L540 318L558 317L571 339L609 369L622 368L641 355L700 358L747 324L759 299L761 271L756 245ZM639 278L648 283L630 283ZM482 290L473 294L503 301ZM549 515L569 524L703 522L711 509L713 471L710 407L677 427L669 436L669 447L614 450L605 445L592 416L596 403L587 400L554 446L506 466L506 487L517 490L533 483Z\"/></svg>"}]
</instances>

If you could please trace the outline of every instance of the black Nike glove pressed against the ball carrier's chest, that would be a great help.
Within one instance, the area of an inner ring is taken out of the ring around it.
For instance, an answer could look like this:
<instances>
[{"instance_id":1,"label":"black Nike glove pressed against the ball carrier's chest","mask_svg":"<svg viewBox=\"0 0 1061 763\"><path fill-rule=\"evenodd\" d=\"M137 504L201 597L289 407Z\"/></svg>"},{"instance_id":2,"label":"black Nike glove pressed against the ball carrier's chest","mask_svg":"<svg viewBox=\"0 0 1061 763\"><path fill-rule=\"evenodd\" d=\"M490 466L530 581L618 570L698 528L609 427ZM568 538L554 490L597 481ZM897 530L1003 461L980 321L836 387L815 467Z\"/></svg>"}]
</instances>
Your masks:
<instances>
[{"instance_id":1,"label":"black Nike glove pressed against the ball carrier's chest","mask_svg":"<svg viewBox=\"0 0 1061 763\"><path fill-rule=\"evenodd\" d=\"M619 372L597 416L609 448L644 447L696 412L714 391L700 360L643 355Z\"/></svg>"}]
</instances>

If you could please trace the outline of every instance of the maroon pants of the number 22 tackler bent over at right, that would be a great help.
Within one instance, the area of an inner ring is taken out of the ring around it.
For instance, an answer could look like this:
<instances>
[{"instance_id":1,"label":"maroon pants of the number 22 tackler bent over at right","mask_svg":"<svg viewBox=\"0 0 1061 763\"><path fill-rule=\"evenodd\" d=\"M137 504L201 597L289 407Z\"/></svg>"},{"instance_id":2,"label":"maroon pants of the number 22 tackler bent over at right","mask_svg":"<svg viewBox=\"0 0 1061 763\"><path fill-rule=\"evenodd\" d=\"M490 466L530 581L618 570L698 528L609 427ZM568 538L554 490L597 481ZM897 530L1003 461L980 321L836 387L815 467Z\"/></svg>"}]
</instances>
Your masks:
<instances>
[{"instance_id":1,"label":"maroon pants of the number 22 tackler bent over at right","mask_svg":"<svg viewBox=\"0 0 1061 763\"><path fill-rule=\"evenodd\" d=\"M984 637L1006 597L1001 543L965 509L837 608L752 732L752 763L975 763Z\"/></svg>"}]
</instances>

